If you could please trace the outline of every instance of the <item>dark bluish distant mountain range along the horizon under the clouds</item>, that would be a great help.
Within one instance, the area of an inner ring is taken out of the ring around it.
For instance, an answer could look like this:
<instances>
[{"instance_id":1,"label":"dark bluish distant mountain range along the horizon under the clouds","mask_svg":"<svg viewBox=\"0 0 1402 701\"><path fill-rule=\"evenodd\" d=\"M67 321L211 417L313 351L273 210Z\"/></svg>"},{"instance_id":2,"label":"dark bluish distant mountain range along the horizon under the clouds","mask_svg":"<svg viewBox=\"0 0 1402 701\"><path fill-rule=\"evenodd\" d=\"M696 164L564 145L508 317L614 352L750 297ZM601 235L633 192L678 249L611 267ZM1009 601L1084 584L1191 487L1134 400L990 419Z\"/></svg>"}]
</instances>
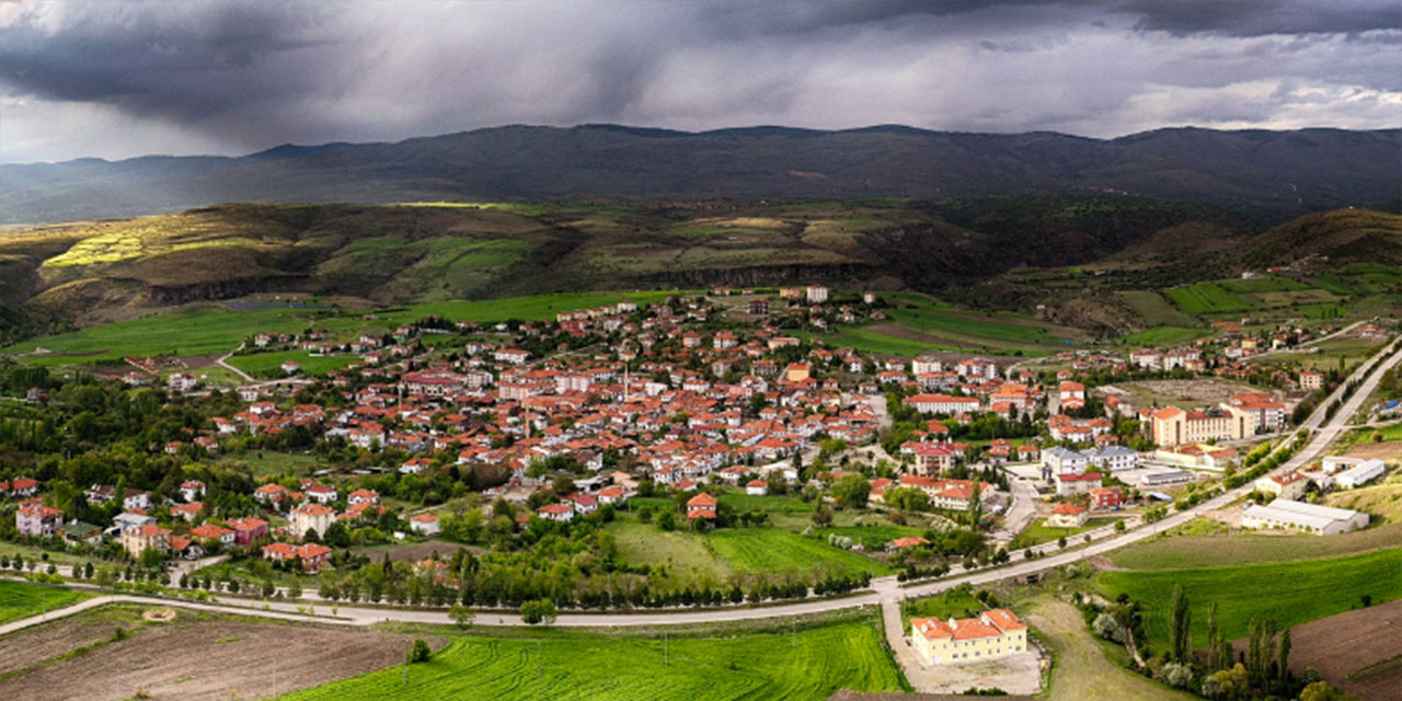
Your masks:
<instances>
[{"instance_id":1,"label":"dark bluish distant mountain range along the horizon under the clouds","mask_svg":"<svg viewBox=\"0 0 1402 701\"><path fill-rule=\"evenodd\" d=\"M1274 223L1396 209L1402 129L1159 129L1119 139L778 126L688 133L503 126L244 157L0 165L0 223L177 212L219 202L945 199L1138 195Z\"/></svg>"}]
</instances>

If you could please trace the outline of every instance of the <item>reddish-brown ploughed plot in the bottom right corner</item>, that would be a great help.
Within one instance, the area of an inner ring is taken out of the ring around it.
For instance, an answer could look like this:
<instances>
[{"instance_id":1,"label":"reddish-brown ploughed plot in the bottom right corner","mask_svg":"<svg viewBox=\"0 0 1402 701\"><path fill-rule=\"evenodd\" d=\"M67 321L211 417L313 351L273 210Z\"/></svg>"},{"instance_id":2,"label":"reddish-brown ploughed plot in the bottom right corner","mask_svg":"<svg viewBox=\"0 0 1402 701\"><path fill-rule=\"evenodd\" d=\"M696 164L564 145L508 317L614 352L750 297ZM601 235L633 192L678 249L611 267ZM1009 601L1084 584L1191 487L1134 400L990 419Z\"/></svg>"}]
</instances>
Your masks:
<instances>
[{"instance_id":1,"label":"reddish-brown ploughed plot in the bottom right corner","mask_svg":"<svg viewBox=\"0 0 1402 701\"><path fill-rule=\"evenodd\" d=\"M1402 700L1402 601L1297 625L1290 639L1295 674L1314 667L1357 698Z\"/></svg>"}]
</instances>

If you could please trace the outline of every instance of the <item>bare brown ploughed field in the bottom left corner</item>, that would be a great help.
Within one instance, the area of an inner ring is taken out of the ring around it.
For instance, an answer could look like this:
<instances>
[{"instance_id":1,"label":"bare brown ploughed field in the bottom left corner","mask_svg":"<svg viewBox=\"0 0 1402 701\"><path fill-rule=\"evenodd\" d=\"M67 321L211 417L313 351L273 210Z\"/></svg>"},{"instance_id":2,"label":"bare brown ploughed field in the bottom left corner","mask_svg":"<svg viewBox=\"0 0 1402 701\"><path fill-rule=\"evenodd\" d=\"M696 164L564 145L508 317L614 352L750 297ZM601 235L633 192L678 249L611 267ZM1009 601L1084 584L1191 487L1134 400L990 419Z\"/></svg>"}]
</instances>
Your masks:
<instances>
[{"instance_id":1,"label":"bare brown ploughed field in the bottom left corner","mask_svg":"<svg viewBox=\"0 0 1402 701\"><path fill-rule=\"evenodd\" d=\"M129 622L135 632L128 639L36 666L76 646L109 641L115 627L98 611L0 639L0 669L25 670L0 681L0 698L121 700L139 690L147 698L262 698L388 667L404 660L412 642L374 629L181 611L174 622Z\"/></svg>"}]
</instances>

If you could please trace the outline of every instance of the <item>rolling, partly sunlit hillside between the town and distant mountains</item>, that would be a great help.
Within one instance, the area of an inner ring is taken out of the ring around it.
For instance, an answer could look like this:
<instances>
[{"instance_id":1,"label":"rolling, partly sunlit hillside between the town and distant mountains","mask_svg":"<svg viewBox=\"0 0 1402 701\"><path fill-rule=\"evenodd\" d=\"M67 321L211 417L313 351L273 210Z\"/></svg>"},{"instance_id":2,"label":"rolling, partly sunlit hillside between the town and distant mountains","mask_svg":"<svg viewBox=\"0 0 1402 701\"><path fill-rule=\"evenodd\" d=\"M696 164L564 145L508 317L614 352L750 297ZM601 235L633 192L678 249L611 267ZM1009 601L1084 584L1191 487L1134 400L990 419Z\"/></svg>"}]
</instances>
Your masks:
<instances>
[{"instance_id":1,"label":"rolling, partly sunlit hillside between the town and distant mountains","mask_svg":"<svg viewBox=\"0 0 1402 701\"><path fill-rule=\"evenodd\" d=\"M958 294L1239 216L1136 198L665 206L220 205L0 234L6 328L91 324L248 293L379 304L827 280Z\"/></svg>"}]
</instances>

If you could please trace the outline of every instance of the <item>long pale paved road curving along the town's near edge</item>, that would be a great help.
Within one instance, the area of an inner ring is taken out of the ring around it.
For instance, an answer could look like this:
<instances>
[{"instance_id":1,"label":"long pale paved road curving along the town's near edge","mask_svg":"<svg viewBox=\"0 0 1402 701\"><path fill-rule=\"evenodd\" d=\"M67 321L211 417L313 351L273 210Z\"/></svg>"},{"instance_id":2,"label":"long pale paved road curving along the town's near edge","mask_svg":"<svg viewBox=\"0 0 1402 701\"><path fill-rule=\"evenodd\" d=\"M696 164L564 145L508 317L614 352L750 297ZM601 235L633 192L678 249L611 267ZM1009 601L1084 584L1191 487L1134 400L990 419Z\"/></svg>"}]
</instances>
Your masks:
<instances>
[{"instance_id":1,"label":"long pale paved road curving along the town's near edge","mask_svg":"<svg viewBox=\"0 0 1402 701\"><path fill-rule=\"evenodd\" d=\"M1318 429L1318 432L1304 449L1301 449L1293 458L1287 460L1276 471L1280 472L1286 470L1298 468L1305 463L1314 460L1321 453L1323 453L1329 447L1329 444L1335 440L1335 437L1338 437L1343 430L1347 430L1346 422L1349 416L1352 416L1353 412L1357 411L1357 407L1361 405L1363 401L1366 401L1367 397L1373 393L1373 390L1381 380L1382 373L1387 369L1396 366L1399 362L1402 362L1402 349L1394 349L1391 355L1387 356L1380 355L1378 358L1370 360L1368 363L1363 365L1359 370L1356 370L1356 376L1359 376L1368 367L1381 363L1378 372L1373 373L1373 376L1361 387L1359 387L1359 390L1345 404L1345 407L1342 407L1328 422L1323 421L1323 409L1325 407L1329 405L1329 402L1332 402L1342 394L1343 387L1336 390L1329 397L1328 401L1321 404L1319 409L1316 409L1315 414L1311 415L1309 419L1305 421L1304 423L1304 428ZM754 618L803 615L803 614L834 611L841 608L851 608L857 606L871 606L871 604L893 606L899 604L901 599L913 599L913 597L935 594L962 583L983 585L983 583L997 582L1012 576L1029 575L1049 568L1078 562L1091 555L1109 552L1112 550L1117 550L1124 545L1130 545L1133 543L1151 538L1164 530L1172 529L1173 526L1179 526L1187 520L1197 517L1203 512L1225 506L1227 503L1238 499L1239 496L1249 494L1252 488L1253 485L1251 484L1242 485L1237 489L1228 491L1223 495L1209 499L1195 508L1173 513L1148 527L1137 527L1138 526L1137 517L1134 517L1130 519L1130 523L1126 523L1126 526L1129 527L1126 533L1115 534L1115 531L1110 527L1098 529L1096 531L1091 531L1092 538L1098 540L1094 540L1091 544L1084 547L1073 547L1071 550L1060 551L1056 547L1056 544L1046 544L1037 548L1032 548L1037 557L1035 557L1030 561L1025 561L1022 551L1018 551L1011 554L1012 561L1007 566L974 571L970 573L965 573L962 572L962 568L955 566L951 576L920 585L901 586L896 580L896 578L886 576L873 579L871 592L843 599L820 599L820 600L809 600L809 601L798 601L789 604L775 604L775 606L753 607L753 608L716 608L716 610L672 608L672 610L618 613L618 614L566 613L562 614L555 621L555 625L561 627L677 625L677 624L694 624L694 622L742 621ZM307 596L314 597L315 594L313 592L308 592ZM83 604L77 604L76 607L69 607L62 611L53 611L48 614L46 618L52 618L55 615L67 615L79 610L101 606L104 601L109 603L116 600L153 603L153 604L160 603L164 606L191 606L202 610L241 613L241 614L265 615L265 617L271 615L275 618L287 618L287 620L315 620L322 622L339 622L348 625L369 625L380 621L408 621L408 622L430 622L430 624L451 622L449 620L447 611L372 608L365 606L332 606L327 603L301 604L301 607L315 606L314 610L315 615L311 617L307 615L307 613L307 613L299 611L300 608L299 604L286 601L264 603L255 599L227 597L227 599L220 599L219 604L191 604L185 601L170 601L170 600L125 596L125 594L121 594L115 599L114 597L93 599L90 601L84 601ZM325 615L331 614L332 611L334 615L331 618L325 618ZM35 618L27 618L24 621L14 621L11 624L0 627L0 634L21 629L28 625L42 622L42 620L43 618L41 617L35 617ZM896 620L899 621L899 617ZM485 611L478 613L475 624L523 625L520 618L513 613L485 613ZM903 637L903 631L887 631L887 637L892 635L900 638Z\"/></svg>"}]
</instances>

